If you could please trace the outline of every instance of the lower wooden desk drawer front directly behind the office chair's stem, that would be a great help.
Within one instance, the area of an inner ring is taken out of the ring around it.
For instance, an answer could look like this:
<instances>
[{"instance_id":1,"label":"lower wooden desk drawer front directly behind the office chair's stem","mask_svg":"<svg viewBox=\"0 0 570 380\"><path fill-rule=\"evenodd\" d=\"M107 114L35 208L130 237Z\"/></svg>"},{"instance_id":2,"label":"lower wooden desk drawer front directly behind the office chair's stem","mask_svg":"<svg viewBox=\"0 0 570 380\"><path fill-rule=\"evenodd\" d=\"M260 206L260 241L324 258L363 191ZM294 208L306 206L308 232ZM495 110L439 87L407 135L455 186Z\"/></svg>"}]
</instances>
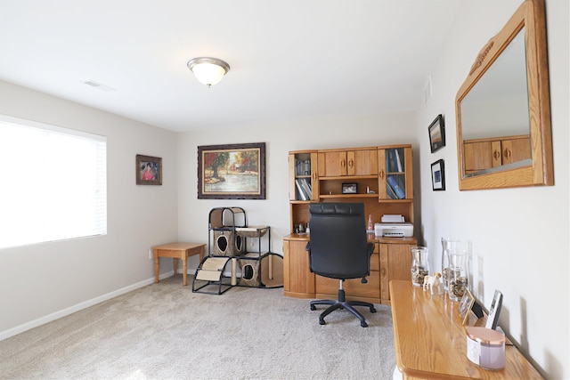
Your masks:
<instances>
[{"instance_id":1,"label":"lower wooden desk drawer front directly behind the office chair's stem","mask_svg":"<svg viewBox=\"0 0 570 380\"><path fill-rule=\"evenodd\" d=\"M343 285L346 297L380 298L379 271L371 271L370 276L366 279L368 280L366 284L362 284L362 279L346 279ZM336 298L338 295L338 279L314 276L314 287L318 294L330 295L331 298Z\"/></svg>"}]
</instances>

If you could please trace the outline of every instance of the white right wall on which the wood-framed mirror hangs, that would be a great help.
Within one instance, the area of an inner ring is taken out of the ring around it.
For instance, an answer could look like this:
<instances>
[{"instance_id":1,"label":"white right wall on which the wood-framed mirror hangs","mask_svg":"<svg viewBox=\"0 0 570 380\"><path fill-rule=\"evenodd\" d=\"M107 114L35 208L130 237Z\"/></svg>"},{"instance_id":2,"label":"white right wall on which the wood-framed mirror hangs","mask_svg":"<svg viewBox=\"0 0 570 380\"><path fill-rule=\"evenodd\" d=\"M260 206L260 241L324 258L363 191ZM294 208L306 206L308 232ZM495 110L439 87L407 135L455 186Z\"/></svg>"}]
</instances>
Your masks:
<instances>
[{"instance_id":1,"label":"white right wall on which the wood-framed mirror hangs","mask_svg":"<svg viewBox=\"0 0 570 380\"><path fill-rule=\"evenodd\" d=\"M472 245L473 289L488 308L503 293L500 325L547 378L570 378L568 348L568 2L547 0L555 186L459 191L455 95L476 54L520 0L466 0L432 74L433 97L418 110L423 237L439 267L441 237ZM443 113L447 146L430 153L426 128ZM430 164L445 160L445 191L432 191Z\"/></svg>"}]
</instances>

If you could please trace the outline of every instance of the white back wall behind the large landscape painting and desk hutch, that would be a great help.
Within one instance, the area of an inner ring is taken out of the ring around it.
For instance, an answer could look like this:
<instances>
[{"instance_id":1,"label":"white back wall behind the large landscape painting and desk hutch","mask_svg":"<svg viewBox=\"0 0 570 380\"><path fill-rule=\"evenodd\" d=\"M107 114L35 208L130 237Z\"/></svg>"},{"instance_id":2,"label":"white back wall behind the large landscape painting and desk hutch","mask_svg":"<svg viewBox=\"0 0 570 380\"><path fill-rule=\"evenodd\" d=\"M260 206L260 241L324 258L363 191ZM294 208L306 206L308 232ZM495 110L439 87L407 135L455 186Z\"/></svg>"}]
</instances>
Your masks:
<instances>
[{"instance_id":1,"label":"white back wall behind the large landscape painting and desk hutch","mask_svg":"<svg viewBox=\"0 0 570 380\"><path fill-rule=\"evenodd\" d=\"M266 199L198 199L198 146L265 142ZM275 121L222 131L182 133L178 139L179 223L182 240L208 242L208 213L214 207L240 206L250 225L269 225L272 250L282 254L289 234L289 150L370 147L393 143L416 146L414 113L345 119ZM198 258L189 259L194 269Z\"/></svg>"}]
</instances>

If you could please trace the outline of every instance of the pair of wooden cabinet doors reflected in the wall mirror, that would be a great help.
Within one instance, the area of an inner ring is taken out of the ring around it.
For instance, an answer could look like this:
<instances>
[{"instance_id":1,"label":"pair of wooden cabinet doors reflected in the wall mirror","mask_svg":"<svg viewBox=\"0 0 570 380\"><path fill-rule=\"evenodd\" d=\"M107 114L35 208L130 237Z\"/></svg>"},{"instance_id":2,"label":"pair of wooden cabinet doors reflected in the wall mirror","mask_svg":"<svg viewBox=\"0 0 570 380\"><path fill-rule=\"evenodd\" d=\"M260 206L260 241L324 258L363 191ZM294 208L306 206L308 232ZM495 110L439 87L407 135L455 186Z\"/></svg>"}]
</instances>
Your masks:
<instances>
[{"instance_id":1,"label":"pair of wooden cabinet doors reflected in the wall mirror","mask_svg":"<svg viewBox=\"0 0 570 380\"><path fill-rule=\"evenodd\" d=\"M506 166L531 158L530 136L507 136L463 141L465 174Z\"/></svg>"}]
</instances>

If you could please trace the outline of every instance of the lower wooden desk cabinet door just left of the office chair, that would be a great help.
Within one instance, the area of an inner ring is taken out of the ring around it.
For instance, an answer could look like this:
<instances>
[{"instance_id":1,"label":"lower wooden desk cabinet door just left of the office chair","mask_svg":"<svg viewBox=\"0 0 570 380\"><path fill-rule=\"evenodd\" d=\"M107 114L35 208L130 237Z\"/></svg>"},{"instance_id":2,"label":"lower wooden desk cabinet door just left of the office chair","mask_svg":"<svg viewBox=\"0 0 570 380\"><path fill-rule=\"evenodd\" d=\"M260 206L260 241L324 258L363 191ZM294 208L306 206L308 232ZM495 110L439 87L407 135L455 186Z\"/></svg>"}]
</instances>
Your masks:
<instances>
[{"instance_id":1,"label":"lower wooden desk cabinet door just left of the office chair","mask_svg":"<svg viewBox=\"0 0 570 380\"><path fill-rule=\"evenodd\" d=\"M283 292L297 298L314 298L314 273L309 270L307 241L283 240Z\"/></svg>"}]
</instances>

